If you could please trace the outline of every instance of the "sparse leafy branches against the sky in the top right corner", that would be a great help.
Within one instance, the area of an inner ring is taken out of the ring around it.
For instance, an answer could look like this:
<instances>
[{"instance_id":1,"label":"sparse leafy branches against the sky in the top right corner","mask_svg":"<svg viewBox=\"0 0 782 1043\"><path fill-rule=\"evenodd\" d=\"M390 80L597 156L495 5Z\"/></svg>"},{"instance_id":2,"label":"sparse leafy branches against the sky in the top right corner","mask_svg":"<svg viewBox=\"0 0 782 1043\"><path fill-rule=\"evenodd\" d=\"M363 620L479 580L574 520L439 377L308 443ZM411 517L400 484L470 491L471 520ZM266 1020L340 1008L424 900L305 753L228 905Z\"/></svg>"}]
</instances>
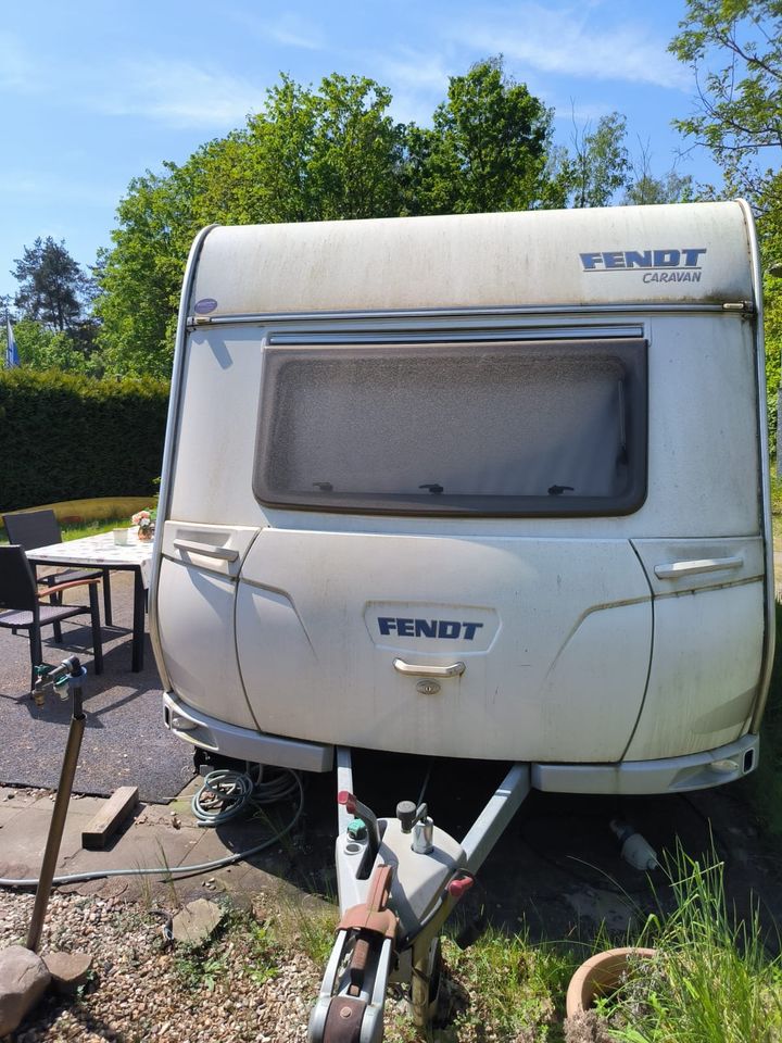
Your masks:
<instances>
[{"instance_id":1,"label":"sparse leafy branches against the sky in the top right corner","mask_svg":"<svg viewBox=\"0 0 782 1043\"><path fill-rule=\"evenodd\" d=\"M698 97L676 126L711 152L730 191L768 205L782 149L782 2L688 0L679 26L669 49Z\"/></svg>"}]
</instances>

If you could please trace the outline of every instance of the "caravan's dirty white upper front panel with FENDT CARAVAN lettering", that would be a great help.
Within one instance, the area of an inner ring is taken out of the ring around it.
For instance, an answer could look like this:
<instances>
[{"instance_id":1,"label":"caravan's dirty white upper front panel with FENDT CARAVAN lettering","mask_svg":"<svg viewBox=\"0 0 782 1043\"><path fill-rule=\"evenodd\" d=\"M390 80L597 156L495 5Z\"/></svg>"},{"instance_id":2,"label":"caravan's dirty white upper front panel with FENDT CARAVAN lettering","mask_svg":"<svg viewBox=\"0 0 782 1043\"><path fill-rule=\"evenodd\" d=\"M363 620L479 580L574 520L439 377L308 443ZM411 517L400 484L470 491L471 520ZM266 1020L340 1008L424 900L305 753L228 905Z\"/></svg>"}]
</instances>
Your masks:
<instances>
[{"instance_id":1,"label":"caravan's dirty white upper front panel with FENDT CARAVAN lettering","mask_svg":"<svg viewBox=\"0 0 782 1043\"><path fill-rule=\"evenodd\" d=\"M742 202L216 227L188 311L752 301L749 236Z\"/></svg>"}]
</instances>

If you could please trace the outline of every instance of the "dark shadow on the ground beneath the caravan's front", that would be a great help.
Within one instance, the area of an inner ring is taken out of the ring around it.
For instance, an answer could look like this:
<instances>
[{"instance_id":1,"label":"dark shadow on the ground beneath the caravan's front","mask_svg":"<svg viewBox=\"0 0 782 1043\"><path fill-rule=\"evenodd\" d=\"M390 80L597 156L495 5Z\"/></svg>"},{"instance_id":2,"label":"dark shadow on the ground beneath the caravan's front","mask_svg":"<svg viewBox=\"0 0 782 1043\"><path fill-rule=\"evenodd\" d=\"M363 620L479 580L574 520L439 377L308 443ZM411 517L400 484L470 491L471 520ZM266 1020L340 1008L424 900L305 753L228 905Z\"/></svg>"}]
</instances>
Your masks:
<instances>
[{"instance_id":1,"label":"dark shadow on the ground beneath the caravan's front","mask_svg":"<svg viewBox=\"0 0 782 1043\"><path fill-rule=\"evenodd\" d=\"M400 800L418 799L429 775L425 794L429 812L438 826L461 839L506 767L356 753L354 787L356 795L382 816L393 814ZM335 772L310 776L305 813L292 838L248 864L336 901L336 793ZM507 934L528 932L533 941L582 942L591 947L601 927L620 940L636 931L647 914L670 909L673 895L666 869L645 874L621 859L609 828L617 817L643 833L664 867L667 862L674 865L678 850L704 866L721 862L729 908L743 918L758 906L768 947L779 951L779 852L753 824L736 787L653 797L533 791L484 863L479 887L469 892L453 929L478 921ZM249 819L217 832L231 850L244 850L265 828Z\"/></svg>"}]
</instances>

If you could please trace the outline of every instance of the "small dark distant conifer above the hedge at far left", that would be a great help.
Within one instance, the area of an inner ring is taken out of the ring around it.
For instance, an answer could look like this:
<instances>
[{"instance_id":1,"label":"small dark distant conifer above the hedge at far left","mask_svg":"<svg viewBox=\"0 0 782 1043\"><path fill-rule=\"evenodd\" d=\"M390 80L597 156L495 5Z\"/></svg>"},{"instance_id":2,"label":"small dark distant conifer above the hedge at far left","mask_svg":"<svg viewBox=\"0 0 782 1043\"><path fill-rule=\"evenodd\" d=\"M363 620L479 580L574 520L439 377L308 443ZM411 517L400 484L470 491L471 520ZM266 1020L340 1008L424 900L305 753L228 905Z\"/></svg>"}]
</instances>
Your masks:
<instances>
[{"instance_id":1,"label":"small dark distant conifer above the hedge at far left","mask_svg":"<svg viewBox=\"0 0 782 1043\"><path fill-rule=\"evenodd\" d=\"M51 236L40 236L14 261L11 273L20 284L14 299L27 318L60 332L74 329L81 321L92 292L90 278Z\"/></svg>"}]
</instances>

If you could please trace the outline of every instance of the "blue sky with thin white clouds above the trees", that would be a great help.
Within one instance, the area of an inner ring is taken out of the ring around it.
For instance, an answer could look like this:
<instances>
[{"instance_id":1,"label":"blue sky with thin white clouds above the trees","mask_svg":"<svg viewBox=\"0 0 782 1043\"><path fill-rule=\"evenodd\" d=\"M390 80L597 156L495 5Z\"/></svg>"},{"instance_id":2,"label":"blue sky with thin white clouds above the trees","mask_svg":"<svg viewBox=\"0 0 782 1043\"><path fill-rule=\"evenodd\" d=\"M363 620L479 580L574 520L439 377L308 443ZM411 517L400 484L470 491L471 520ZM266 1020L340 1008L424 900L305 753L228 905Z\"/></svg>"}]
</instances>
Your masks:
<instances>
[{"instance_id":1,"label":"blue sky with thin white clouds above the trees","mask_svg":"<svg viewBox=\"0 0 782 1043\"><path fill-rule=\"evenodd\" d=\"M91 264L110 244L134 176L184 161L263 106L280 71L301 83L370 76L391 88L399 120L428 123L447 77L503 53L515 79L556 110L556 138L576 122L627 115L657 174L685 148L670 121L694 81L666 47L684 0L463 0L289 3L276 0L28 0L0 22L0 294L37 236L64 239ZM681 174L714 180L708 158Z\"/></svg>"}]
</instances>

